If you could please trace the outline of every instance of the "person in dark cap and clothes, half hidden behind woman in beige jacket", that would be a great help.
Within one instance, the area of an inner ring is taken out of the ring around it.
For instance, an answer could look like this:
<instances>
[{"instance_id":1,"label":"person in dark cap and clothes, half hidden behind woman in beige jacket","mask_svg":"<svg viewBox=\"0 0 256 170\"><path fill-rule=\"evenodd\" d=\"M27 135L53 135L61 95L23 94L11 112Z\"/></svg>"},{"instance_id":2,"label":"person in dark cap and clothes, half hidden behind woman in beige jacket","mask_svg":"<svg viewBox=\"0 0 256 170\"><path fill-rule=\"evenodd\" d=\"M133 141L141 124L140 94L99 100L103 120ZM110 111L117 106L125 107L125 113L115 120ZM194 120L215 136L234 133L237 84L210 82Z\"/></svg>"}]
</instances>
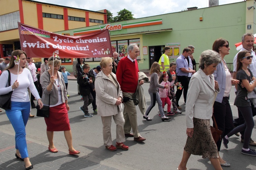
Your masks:
<instances>
[{"instance_id":1,"label":"person in dark cap and clothes, half hidden behind woman in beige jacket","mask_svg":"<svg viewBox=\"0 0 256 170\"><path fill-rule=\"evenodd\" d=\"M91 91L91 95L93 95L92 105L93 105L93 112L95 114L97 114L98 112L97 112L97 106L96 106L96 92L95 92L94 82L95 82L95 78L96 78L97 74L100 71L101 71L101 67L100 67L100 65L98 65L96 68L91 69L90 72L89 72L89 75L88 75L88 77L91 80L93 80L93 83L90 84L90 91Z\"/></svg>"}]
</instances>

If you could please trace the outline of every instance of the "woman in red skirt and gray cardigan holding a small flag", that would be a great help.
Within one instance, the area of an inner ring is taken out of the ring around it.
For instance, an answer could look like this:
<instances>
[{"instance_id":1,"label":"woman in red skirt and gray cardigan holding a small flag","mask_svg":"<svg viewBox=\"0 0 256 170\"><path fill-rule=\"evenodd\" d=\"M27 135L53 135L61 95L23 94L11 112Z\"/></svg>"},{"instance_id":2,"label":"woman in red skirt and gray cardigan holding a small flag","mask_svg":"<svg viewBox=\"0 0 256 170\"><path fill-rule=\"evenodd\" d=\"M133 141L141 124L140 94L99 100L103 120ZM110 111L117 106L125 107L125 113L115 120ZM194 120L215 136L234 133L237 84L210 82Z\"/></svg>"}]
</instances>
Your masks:
<instances>
[{"instance_id":1,"label":"woman in red skirt and gray cardigan holding a small flag","mask_svg":"<svg viewBox=\"0 0 256 170\"><path fill-rule=\"evenodd\" d=\"M40 77L44 105L48 105L50 99L49 117L44 118L47 126L46 134L49 141L48 150L53 153L58 152L53 143L53 134L54 131L64 131L64 136L69 147L69 154L76 155L80 152L76 151L72 145L72 134L68 118L68 96L62 73L58 72L60 64L61 60L59 57L54 57L54 60L53 57L50 57L48 60L50 69L45 71Z\"/></svg>"}]
</instances>

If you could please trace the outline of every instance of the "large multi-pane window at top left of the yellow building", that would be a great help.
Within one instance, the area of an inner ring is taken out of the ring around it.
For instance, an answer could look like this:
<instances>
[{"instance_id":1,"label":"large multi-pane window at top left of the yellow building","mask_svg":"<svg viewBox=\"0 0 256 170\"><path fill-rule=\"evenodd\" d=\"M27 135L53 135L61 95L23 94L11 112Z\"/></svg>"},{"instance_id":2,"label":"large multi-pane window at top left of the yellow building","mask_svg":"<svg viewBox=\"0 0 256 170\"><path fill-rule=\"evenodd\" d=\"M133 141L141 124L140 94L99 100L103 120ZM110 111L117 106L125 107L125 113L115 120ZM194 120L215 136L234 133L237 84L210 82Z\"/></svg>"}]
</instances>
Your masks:
<instances>
[{"instance_id":1,"label":"large multi-pane window at top left of the yellow building","mask_svg":"<svg viewBox=\"0 0 256 170\"><path fill-rule=\"evenodd\" d=\"M20 22L19 11L0 15L0 31L18 28L18 22Z\"/></svg>"}]
</instances>

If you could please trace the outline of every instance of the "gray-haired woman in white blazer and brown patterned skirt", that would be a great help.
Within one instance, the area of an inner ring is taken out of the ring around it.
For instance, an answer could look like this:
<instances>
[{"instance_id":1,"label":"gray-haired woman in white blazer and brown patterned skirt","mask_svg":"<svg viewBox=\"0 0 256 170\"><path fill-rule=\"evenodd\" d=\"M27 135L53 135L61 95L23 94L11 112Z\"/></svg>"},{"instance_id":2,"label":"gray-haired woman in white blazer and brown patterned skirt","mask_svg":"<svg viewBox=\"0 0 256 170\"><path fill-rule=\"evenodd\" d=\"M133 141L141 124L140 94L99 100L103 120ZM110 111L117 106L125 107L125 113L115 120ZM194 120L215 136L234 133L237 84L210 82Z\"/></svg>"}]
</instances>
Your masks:
<instances>
[{"instance_id":1,"label":"gray-haired woman in white blazer and brown patterned skirt","mask_svg":"<svg viewBox=\"0 0 256 170\"><path fill-rule=\"evenodd\" d=\"M217 145L210 128L214 95L215 92L219 92L218 83L212 74L219 63L221 63L221 57L216 51L203 51L199 59L199 70L189 82L186 103L188 137L177 170L187 169L187 161L191 154L209 158L214 169L222 169L219 164Z\"/></svg>"}]
</instances>

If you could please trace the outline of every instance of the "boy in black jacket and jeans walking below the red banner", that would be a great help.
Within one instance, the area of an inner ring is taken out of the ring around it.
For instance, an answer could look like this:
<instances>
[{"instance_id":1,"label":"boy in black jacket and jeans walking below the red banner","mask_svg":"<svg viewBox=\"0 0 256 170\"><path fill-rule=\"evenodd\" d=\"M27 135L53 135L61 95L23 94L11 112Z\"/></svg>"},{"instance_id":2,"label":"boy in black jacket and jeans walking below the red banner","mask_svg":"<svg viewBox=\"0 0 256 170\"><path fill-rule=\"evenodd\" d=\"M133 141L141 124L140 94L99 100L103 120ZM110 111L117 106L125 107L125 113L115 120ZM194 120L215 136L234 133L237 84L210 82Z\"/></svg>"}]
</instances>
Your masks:
<instances>
[{"instance_id":1,"label":"boy in black jacket and jeans walking below the red banner","mask_svg":"<svg viewBox=\"0 0 256 170\"><path fill-rule=\"evenodd\" d=\"M90 84L93 83L93 80L90 80L88 77L89 71L90 71L90 65L84 64L83 73L78 78L79 91L80 91L80 94L83 96L83 101L84 101L84 106L80 107L80 110L84 112L84 117L93 116L88 111L88 106L93 102L93 96L90 93Z\"/></svg>"}]
</instances>

